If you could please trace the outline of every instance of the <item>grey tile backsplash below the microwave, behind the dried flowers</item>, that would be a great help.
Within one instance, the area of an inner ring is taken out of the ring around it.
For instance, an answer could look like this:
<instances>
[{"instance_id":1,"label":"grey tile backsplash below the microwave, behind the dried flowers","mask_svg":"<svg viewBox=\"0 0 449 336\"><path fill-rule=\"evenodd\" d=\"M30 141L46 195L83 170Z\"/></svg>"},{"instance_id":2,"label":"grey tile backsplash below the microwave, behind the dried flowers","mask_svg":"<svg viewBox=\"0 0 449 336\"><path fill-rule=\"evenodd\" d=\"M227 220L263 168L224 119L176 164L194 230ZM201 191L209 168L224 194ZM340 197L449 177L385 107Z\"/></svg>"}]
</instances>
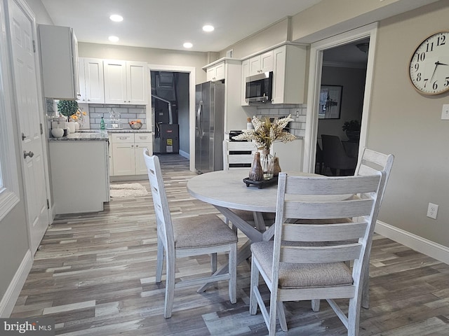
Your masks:
<instances>
[{"instance_id":1,"label":"grey tile backsplash below the microwave, behind the dried flowers","mask_svg":"<svg viewBox=\"0 0 449 336\"><path fill-rule=\"evenodd\" d=\"M288 125L290 133L297 137L304 137L306 132L306 110L305 104L271 104L258 105L256 116L257 118L263 116L288 117L291 114L292 119Z\"/></svg>"}]
</instances>

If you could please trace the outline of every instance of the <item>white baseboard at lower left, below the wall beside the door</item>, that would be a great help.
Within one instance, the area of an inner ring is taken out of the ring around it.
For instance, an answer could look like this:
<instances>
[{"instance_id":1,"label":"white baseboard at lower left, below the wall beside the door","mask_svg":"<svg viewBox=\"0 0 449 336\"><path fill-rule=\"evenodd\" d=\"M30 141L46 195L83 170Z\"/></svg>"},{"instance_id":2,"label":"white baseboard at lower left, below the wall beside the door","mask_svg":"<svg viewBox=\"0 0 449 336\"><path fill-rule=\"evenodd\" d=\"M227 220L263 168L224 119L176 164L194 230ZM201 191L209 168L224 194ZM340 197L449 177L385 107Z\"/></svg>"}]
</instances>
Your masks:
<instances>
[{"instance_id":1,"label":"white baseboard at lower left, below the wall beside the door","mask_svg":"<svg viewBox=\"0 0 449 336\"><path fill-rule=\"evenodd\" d=\"M15 272L13 280L9 284L8 289L6 289L5 295L1 298L0 318L8 318L13 312L15 302L20 295L20 290L22 290L25 280L27 280L27 276L29 274L29 271L31 270L32 265L32 254L31 251L28 250L23 257L17 272Z\"/></svg>"}]
</instances>

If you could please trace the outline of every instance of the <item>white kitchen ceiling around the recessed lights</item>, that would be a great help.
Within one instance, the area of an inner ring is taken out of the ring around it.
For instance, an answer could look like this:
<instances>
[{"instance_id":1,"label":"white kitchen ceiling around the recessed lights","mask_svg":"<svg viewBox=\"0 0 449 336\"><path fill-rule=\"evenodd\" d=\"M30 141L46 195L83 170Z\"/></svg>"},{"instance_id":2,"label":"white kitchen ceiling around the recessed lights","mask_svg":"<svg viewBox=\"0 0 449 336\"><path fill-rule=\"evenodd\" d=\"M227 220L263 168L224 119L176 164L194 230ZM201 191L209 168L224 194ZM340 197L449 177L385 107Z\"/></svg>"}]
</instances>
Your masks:
<instances>
[{"instance_id":1,"label":"white kitchen ceiling around the recessed lights","mask_svg":"<svg viewBox=\"0 0 449 336\"><path fill-rule=\"evenodd\" d=\"M54 25L72 27L80 42L145 48L220 51L321 0L41 0ZM281 4L281 6L280 6ZM123 16L112 22L109 15ZM213 25L206 33L203 25ZM116 43L108 36L120 38Z\"/></svg>"}]
</instances>

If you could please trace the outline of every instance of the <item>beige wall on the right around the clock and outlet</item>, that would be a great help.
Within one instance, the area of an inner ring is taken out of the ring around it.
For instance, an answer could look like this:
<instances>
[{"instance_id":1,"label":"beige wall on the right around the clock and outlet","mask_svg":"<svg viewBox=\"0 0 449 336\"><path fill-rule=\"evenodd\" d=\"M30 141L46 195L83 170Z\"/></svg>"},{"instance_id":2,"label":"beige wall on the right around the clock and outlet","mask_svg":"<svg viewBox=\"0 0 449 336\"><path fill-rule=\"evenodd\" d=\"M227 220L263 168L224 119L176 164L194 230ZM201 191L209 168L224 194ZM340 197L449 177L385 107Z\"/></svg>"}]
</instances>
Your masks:
<instances>
[{"instance_id":1,"label":"beige wall on the right around the clock and outlet","mask_svg":"<svg viewBox=\"0 0 449 336\"><path fill-rule=\"evenodd\" d=\"M449 1L380 22L377 32L368 146L394 153L380 220L449 246L449 120L441 120L449 93L425 96L414 90L408 64L416 46L448 30ZM429 202L439 205L427 218Z\"/></svg>"}]
</instances>

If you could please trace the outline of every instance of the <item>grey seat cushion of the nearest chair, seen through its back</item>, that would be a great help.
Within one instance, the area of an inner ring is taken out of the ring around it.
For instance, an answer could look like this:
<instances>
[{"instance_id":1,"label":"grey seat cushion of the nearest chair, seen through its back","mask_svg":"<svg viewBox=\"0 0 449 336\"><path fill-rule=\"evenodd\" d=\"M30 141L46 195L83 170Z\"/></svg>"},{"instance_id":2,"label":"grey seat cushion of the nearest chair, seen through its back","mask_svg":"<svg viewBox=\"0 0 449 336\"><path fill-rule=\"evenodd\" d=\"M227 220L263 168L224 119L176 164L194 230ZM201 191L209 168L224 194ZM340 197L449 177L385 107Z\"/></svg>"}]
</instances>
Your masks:
<instances>
[{"instance_id":1,"label":"grey seat cushion of the nearest chair, seen through its back","mask_svg":"<svg viewBox=\"0 0 449 336\"><path fill-rule=\"evenodd\" d=\"M264 272L271 279L273 241L260 241L251 245L253 258L259 260ZM344 262L321 264L279 264L279 288L306 288L345 286L353 283L351 269Z\"/></svg>"}]
</instances>

